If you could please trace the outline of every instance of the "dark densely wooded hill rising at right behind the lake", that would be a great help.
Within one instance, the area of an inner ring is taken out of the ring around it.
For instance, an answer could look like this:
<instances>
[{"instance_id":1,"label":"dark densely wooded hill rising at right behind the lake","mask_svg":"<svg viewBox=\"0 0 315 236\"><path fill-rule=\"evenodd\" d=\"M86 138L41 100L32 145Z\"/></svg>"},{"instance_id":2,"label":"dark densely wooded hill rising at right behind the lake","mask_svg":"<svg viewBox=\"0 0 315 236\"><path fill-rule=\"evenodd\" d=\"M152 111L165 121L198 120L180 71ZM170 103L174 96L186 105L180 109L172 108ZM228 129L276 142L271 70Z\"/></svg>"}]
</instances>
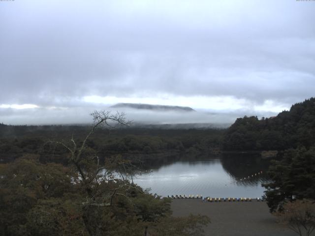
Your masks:
<instances>
[{"instance_id":1,"label":"dark densely wooded hill rising at right behind the lake","mask_svg":"<svg viewBox=\"0 0 315 236\"><path fill-rule=\"evenodd\" d=\"M276 117L238 118L226 131L225 150L284 150L315 145L315 98L296 103Z\"/></svg>"}]
</instances>

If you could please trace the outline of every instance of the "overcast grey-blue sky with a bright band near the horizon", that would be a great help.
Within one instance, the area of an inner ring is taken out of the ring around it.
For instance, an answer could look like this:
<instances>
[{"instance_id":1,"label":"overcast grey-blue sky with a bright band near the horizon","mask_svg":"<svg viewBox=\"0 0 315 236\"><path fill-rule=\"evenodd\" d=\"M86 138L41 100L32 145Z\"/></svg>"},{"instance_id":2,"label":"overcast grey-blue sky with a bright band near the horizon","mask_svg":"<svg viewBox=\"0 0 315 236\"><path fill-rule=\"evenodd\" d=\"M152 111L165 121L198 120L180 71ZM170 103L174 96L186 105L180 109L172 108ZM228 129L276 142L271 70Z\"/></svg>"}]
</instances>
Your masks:
<instances>
[{"instance_id":1,"label":"overcast grey-blue sky with a bright band near the horizon","mask_svg":"<svg viewBox=\"0 0 315 236\"><path fill-rule=\"evenodd\" d=\"M315 1L14 0L0 22L4 123L86 122L117 102L230 122L315 95Z\"/></svg>"}]
</instances>

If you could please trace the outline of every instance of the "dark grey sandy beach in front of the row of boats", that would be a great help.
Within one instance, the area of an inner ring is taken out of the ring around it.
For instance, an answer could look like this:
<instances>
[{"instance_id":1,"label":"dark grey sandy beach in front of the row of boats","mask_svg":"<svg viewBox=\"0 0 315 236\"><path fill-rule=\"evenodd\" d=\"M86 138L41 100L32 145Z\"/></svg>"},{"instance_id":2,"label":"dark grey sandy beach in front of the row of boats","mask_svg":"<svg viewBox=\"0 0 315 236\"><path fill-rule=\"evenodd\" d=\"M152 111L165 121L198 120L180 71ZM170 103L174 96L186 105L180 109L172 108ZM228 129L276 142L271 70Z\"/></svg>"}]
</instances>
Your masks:
<instances>
[{"instance_id":1,"label":"dark grey sandy beach in front of the row of boats","mask_svg":"<svg viewBox=\"0 0 315 236\"><path fill-rule=\"evenodd\" d=\"M265 202L202 203L200 199L175 199L171 206L174 216L209 216L207 236L297 236L277 223Z\"/></svg>"}]
</instances>

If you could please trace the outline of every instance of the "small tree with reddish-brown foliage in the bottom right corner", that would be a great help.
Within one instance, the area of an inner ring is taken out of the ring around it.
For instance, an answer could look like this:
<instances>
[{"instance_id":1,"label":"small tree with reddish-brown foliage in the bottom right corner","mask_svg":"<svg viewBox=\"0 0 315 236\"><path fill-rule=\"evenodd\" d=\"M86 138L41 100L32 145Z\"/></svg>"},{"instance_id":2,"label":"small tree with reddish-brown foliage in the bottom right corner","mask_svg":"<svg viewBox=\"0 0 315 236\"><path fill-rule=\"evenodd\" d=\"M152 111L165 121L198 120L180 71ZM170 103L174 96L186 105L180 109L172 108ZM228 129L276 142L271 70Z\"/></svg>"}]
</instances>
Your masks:
<instances>
[{"instance_id":1,"label":"small tree with reddish-brown foliage in the bottom right corner","mask_svg":"<svg viewBox=\"0 0 315 236\"><path fill-rule=\"evenodd\" d=\"M299 236L310 236L315 230L314 200L288 202L284 204L284 210L276 215Z\"/></svg>"}]
</instances>

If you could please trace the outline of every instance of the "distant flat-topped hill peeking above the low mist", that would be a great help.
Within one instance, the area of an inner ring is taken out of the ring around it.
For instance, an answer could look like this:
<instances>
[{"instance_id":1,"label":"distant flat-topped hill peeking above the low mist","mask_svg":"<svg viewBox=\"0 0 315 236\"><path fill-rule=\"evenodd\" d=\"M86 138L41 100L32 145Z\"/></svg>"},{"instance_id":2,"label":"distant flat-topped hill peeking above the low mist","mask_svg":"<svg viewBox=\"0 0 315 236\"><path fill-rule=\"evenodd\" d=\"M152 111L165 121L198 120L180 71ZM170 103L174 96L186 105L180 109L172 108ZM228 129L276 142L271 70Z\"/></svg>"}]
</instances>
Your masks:
<instances>
[{"instance_id":1,"label":"distant flat-topped hill peeking above the low mist","mask_svg":"<svg viewBox=\"0 0 315 236\"><path fill-rule=\"evenodd\" d=\"M151 105L142 103L117 103L111 108L133 108L139 110L153 110L153 111L176 111L176 112L194 112L190 107L181 106L166 106L166 105Z\"/></svg>"}]
</instances>

